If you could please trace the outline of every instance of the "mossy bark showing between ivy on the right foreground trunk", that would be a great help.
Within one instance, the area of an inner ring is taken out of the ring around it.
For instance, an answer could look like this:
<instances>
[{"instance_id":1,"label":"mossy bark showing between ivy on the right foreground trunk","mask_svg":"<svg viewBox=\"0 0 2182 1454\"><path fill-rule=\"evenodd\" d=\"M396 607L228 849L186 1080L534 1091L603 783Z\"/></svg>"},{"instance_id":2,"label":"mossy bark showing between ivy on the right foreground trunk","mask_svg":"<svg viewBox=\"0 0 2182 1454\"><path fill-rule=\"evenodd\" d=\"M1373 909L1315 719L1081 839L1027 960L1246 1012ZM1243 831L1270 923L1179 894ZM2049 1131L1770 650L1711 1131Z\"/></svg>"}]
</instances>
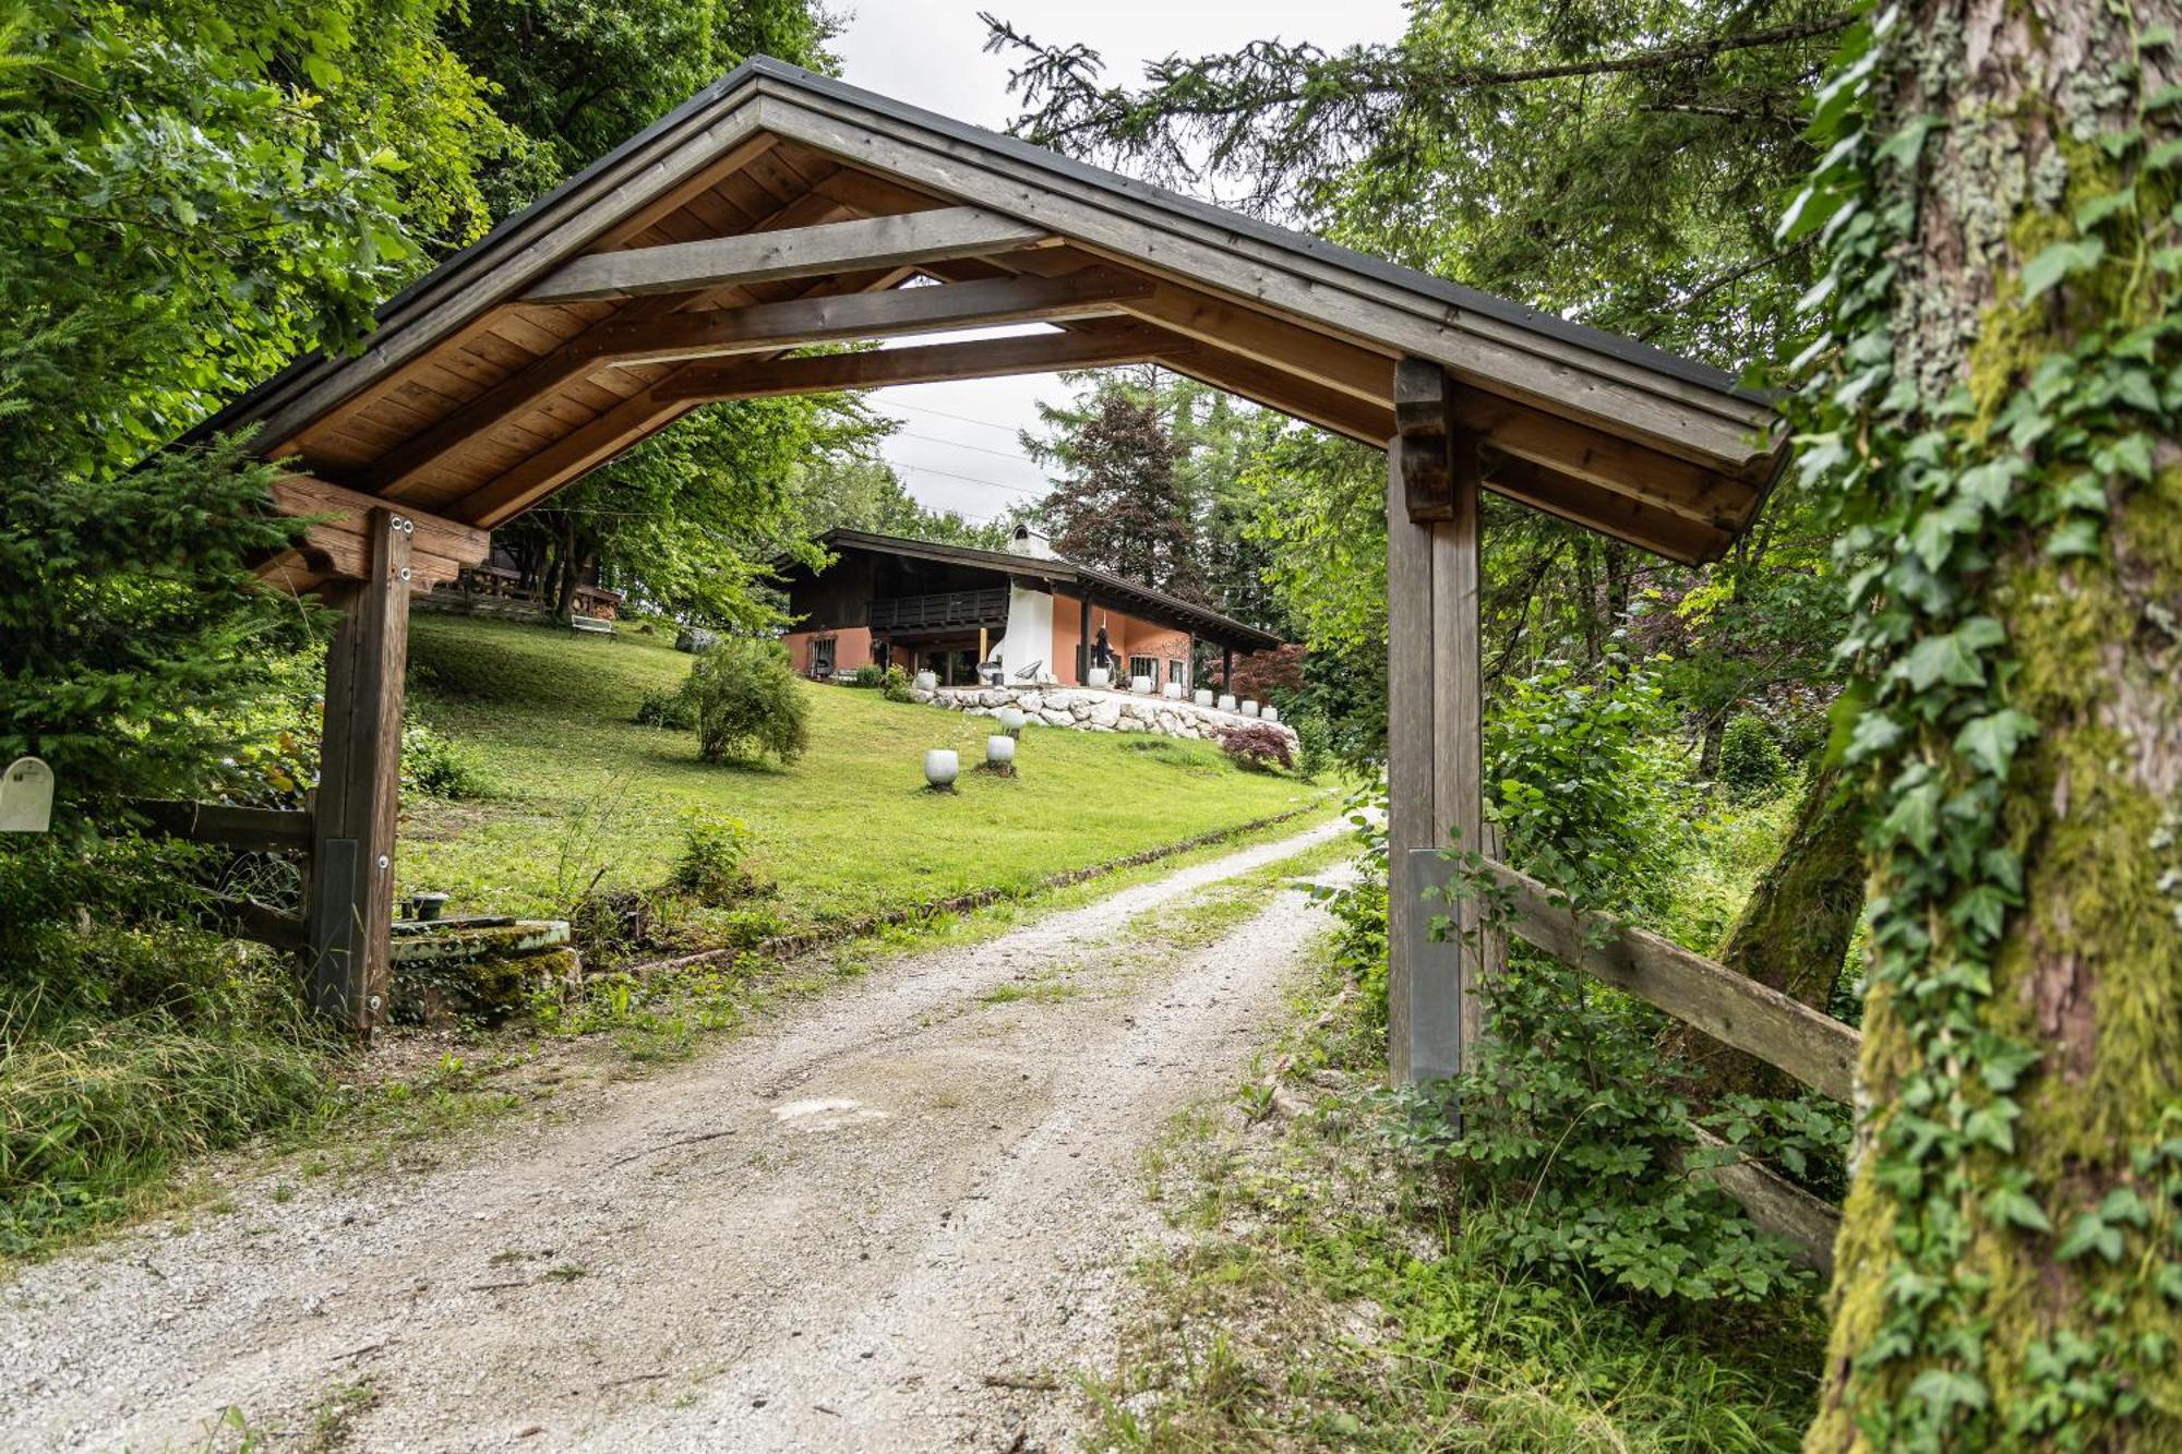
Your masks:
<instances>
[{"instance_id":1,"label":"mossy bark showing between ivy on the right foreground trunk","mask_svg":"<svg viewBox=\"0 0 2182 1454\"><path fill-rule=\"evenodd\" d=\"M1927 941L1892 943L1931 948L1909 985L1881 989L1874 978L1866 1002L1866 1153L1844 1207L1811 1454L2182 1447L2182 1371L2167 1347L2182 1316L2158 1290L2182 1262L2175 1196L2158 1170L2175 1135L2160 1116L2182 1098L2182 448L2167 404L2114 406L2086 426L2099 441L2162 419L2149 478L2090 469L2060 434L2025 450L1990 432L2031 389L2040 360L2071 356L2108 325L2121 336L2171 317L2171 303L2156 301L2154 269L2132 271L2130 240L2114 229L2108 264L2045 297L2025 286L2051 245L2093 231L2084 205L2132 175L2141 212L2121 214L2127 229L2141 231L2145 253L2173 240L2173 172L2134 170L2175 138L2173 107L2141 120L2145 100L2178 79L2171 39L2138 50L2160 28L2182 28L2182 4L1925 0L1905 9L1877 72L1872 138L1911 118L1940 122L1903 183L1914 210L1901 214L1911 218L1907 240L1887 260L1894 389L1914 386L1925 417L1966 456L2029 461L2016 489L2086 480L2099 524L2084 552L2049 552L2053 531L2029 524L1994 535L1983 568L1938 583L2003 627L2012 668L1999 690L2036 720L2038 736L2001 779L1992 832L2021 862L2021 893L1999 950L1983 954L1990 963L1955 954L1966 930L1953 906L1922 921L1894 915L1894 932ZM2099 144L2138 127L2141 142ZM2173 282L2158 286L2171 293ZM2173 362L2169 334L2158 376ZM1879 393L1855 404L1874 428ZM1935 408L1951 395L1966 395L1968 408ZM1874 478L1870 489L1890 485ZM1959 762L1957 727L1911 723L1916 755L1896 753L1887 773L1949 764L1949 753ZM1874 784L1887 795L1874 821L1907 801L1901 782ZM1933 854L1955 836L1968 830L1942 825ZM1905 882L1918 882L1918 865L1896 838L1872 862L1874 939L1879 904ZM1962 989L1966 972L1981 980ZM1975 1013L1942 1024L1925 996L1962 996ZM1979 1054L1990 1046L2025 1046L2038 1059L2012 1085L1970 1074L1953 1089L1955 1057L1988 1068ZM1935 1085L1949 1087L1940 1100ZM1931 1170L1898 1151L1920 1124L1955 1135L2001 1094L2018 1111L2003 1133L1925 1161ZM2027 1214L1997 1209L2012 1188L2031 1203ZM2114 1205L2145 1207L2147 1220L2117 1214L2112 1253L2066 1251L2084 1218L2099 1225ZM2051 1231L2036 1227L2040 1216ZM1944 1399L1940 1413L1933 1399ZM1890 1432L1901 1428L1916 1437Z\"/></svg>"}]
</instances>

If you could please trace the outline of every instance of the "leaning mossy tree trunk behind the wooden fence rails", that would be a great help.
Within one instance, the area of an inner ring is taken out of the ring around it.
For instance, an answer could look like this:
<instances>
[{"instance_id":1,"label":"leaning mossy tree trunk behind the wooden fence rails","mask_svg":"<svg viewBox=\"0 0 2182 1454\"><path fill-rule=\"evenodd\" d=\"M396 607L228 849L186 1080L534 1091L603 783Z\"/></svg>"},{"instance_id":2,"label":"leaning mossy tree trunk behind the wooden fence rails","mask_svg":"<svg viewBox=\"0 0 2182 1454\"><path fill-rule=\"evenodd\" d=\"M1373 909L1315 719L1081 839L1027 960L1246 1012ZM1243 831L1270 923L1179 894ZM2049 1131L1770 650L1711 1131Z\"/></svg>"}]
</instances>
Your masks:
<instances>
[{"instance_id":1,"label":"leaning mossy tree trunk behind the wooden fence rails","mask_svg":"<svg viewBox=\"0 0 2182 1454\"><path fill-rule=\"evenodd\" d=\"M1815 1011L1833 1004L1848 941L1863 913L1863 803L1842 790L1842 768L1811 773L1781 858L1743 906L1719 963ZM1791 1096L1796 1081L1687 1026L1674 1048L1706 1070L1702 1094Z\"/></svg>"}]
</instances>

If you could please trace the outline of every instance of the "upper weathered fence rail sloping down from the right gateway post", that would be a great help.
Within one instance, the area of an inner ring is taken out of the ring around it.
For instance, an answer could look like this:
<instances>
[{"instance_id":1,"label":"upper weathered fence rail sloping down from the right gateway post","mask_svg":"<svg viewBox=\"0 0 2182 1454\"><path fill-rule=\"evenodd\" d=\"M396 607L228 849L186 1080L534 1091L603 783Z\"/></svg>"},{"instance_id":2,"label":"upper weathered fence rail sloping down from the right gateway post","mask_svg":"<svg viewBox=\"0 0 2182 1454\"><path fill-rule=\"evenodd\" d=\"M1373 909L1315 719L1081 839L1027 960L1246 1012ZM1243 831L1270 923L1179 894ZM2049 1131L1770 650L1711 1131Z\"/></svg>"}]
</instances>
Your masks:
<instances>
[{"instance_id":1,"label":"upper weathered fence rail sloping down from the right gateway post","mask_svg":"<svg viewBox=\"0 0 2182 1454\"><path fill-rule=\"evenodd\" d=\"M1538 880L1490 865L1512 895L1508 930L1554 958L1647 1000L1724 1046L1778 1065L1835 1100L1855 1094L1863 1039L1831 1015L1658 934L1554 904Z\"/></svg>"}]
</instances>

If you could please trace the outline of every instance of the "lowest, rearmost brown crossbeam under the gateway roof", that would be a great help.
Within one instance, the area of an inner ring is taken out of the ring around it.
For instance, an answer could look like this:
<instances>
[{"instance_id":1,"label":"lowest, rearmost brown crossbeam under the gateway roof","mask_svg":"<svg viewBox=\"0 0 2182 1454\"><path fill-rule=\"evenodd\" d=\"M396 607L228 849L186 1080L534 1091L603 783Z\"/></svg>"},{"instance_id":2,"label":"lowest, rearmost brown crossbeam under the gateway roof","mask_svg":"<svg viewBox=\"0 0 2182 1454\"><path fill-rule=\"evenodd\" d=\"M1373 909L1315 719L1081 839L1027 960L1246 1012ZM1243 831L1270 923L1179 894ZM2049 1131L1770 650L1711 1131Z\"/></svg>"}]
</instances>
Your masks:
<instances>
[{"instance_id":1,"label":"lowest, rearmost brown crossbeam under the gateway roof","mask_svg":"<svg viewBox=\"0 0 2182 1454\"><path fill-rule=\"evenodd\" d=\"M757 400L834 389L886 389L956 378L1052 373L1100 365L1143 362L1159 349L1174 351L1172 334L1148 327L1080 334L1030 334L932 343L908 349L781 358L772 362L690 365L652 389L657 400ZM1183 347L1180 354L1191 349Z\"/></svg>"}]
</instances>

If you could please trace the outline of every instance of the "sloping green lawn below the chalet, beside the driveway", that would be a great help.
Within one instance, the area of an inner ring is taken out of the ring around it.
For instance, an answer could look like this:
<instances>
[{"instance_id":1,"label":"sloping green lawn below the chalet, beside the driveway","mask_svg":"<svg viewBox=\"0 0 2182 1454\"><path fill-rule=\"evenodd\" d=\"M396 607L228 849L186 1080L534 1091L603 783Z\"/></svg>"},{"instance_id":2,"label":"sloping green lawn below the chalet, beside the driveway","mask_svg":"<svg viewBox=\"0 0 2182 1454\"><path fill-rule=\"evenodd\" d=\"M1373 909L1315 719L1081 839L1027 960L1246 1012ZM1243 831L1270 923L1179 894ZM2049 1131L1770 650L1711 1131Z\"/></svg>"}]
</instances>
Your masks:
<instances>
[{"instance_id":1,"label":"sloping green lawn below the chalet, beside the driveway","mask_svg":"<svg viewBox=\"0 0 2182 1454\"><path fill-rule=\"evenodd\" d=\"M967 771L991 718L805 686L810 751L788 768L707 766L696 734L637 727L644 692L690 657L668 637L613 637L419 613L410 714L478 749L495 792L410 799L401 891L456 913L565 913L594 884L648 889L672 867L692 810L742 819L770 908L788 923L858 917L967 889L1034 880L1320 799L1244 773L1207 742L1030 727L1019 777ZM923 751L962 753L954 797L923 790Z\"/></svg>"}]
</instances>

